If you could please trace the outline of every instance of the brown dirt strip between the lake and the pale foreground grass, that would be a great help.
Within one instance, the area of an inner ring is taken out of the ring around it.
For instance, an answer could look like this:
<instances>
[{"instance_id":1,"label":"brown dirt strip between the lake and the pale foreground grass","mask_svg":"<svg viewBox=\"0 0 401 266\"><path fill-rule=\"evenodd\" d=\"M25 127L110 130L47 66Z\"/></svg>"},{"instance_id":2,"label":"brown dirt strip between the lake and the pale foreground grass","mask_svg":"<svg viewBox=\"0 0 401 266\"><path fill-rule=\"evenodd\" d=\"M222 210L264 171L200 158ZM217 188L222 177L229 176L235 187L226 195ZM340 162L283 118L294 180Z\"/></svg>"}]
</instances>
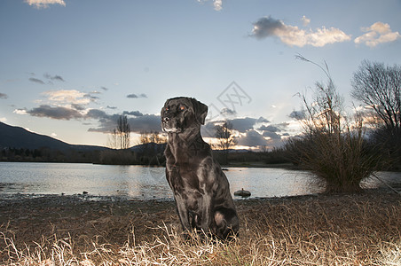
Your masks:
<instances>
[{"instance_id":1,"label":"brown dirt strip between the lake and the pale foreground grass","mask_svg":"<svg viewBox=\"0 0 401 266\"><path fill-rule=\"evenodd\" d=\"M353 231L352 236L358 236L359 231L377 233L381 240L392 243L401 239L401 218L397 217L401 216L401 197L393 192L235 200L235 205L241 222L240 239L247 238L248 231L274 233L286 226L299 227L300 231L333 231L345 240L349 231ZM310 220L312 229L308 228ZM117 248L152 241L157 228L165 226L179 228L174 201L20 195L0 200L0 257L7 262L10 250L3 239L13 239L18 249L66 239L79 254L94 245Z\"/></svg>"}]
</instances>

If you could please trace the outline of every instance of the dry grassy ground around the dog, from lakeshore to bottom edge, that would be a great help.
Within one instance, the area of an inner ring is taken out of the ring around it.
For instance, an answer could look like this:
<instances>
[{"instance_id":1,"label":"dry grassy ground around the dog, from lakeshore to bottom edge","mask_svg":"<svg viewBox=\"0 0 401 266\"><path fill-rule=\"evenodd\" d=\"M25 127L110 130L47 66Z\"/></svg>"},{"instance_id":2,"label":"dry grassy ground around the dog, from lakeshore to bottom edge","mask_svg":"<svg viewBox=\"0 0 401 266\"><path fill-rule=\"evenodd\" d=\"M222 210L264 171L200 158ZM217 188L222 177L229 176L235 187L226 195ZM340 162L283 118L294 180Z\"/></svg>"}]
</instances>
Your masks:
<instances>
[{"instance_id":1,"label":"dry grassy ground around the dog, from lakeshore to bottom edge","mask_svg":"<svg viewBox=\"0 0 401 266\"><path fill-rule=\"evenodd\" d=\"M240 200L240 237L231 243L196 235L185 240L173 202L41 203L26 219L18 212L27 202L0 205L0 217L10 221L0 227L0 263L401 264L400 198L386 192Z\"/></svg>"}]
</instances>

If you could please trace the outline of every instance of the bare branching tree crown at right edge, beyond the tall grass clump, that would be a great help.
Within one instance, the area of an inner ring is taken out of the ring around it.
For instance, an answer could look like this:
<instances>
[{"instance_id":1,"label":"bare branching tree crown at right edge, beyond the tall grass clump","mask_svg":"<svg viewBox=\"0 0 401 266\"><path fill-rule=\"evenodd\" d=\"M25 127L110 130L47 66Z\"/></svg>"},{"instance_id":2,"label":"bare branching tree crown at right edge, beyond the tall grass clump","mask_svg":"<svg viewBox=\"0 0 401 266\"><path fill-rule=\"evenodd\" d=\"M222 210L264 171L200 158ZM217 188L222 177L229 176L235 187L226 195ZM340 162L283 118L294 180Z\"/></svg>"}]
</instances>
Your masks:
<instances>
[{"instance_id":1,"label":"bare branching tree crown at right edge, beyond the tall grass clump","mask_svg":"<svg viewBox=\"0 0 401 266\"><path fill-rule=\"evenodd\" d=\"M372 108L386 129L401 129L401 66L362 61L351 81L351 96Z\"/></svg>"}]
</instances>

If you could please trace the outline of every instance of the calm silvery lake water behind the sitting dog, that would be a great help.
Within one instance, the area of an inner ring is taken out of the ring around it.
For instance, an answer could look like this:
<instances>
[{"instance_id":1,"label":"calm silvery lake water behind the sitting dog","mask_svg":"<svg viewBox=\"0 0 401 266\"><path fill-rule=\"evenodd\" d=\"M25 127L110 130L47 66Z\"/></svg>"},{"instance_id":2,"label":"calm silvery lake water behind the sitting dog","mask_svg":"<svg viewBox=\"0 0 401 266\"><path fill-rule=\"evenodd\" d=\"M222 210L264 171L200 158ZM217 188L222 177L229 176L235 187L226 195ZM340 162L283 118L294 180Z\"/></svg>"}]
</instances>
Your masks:
<instances>
[{"instance_id":1,"label":"calm silvery lake water behind the sitting dog","mask_svg":"<svg viewBox=\"0 0 401 266\"><path fill-rule=\"evenodd\" d=\"M282 197L322 192L310 173L280 168L229 168L224 172L232 193L244 188L252 197ZM381 173L399 187L401 173ZM377 179L363 184L379 187ZM124 196L135 199L172 199L164 168L74 163L0 162L0 197L12 194Z\"/></svg>"}]
</instances>

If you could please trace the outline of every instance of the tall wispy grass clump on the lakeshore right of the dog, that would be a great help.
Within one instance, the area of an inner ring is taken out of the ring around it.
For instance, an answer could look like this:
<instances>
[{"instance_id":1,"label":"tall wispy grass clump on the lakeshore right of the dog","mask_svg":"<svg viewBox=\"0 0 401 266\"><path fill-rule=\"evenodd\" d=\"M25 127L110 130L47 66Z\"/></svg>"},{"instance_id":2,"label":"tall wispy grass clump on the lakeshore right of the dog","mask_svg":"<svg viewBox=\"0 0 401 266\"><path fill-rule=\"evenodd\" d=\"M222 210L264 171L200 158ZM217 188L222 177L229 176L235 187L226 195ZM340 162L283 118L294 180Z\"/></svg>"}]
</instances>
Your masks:
<instances>
[{"instance_id":1,"label":"tall wispy grass clump on the lakeshore right of the dog","mask_svg":"<svg viewBox=\"0 0 401 266\"><path fill-rule=\"evenodd\" d=\"M367 145L363 119L344 112L342 97L335 90L328 67L320 67L326 83L316 82L313 96L303 100L303 134L287 141L293 161L326 183L326 192L358 192L360 182L371 176L379 155Z\"/></svg>"}]
</instances>

